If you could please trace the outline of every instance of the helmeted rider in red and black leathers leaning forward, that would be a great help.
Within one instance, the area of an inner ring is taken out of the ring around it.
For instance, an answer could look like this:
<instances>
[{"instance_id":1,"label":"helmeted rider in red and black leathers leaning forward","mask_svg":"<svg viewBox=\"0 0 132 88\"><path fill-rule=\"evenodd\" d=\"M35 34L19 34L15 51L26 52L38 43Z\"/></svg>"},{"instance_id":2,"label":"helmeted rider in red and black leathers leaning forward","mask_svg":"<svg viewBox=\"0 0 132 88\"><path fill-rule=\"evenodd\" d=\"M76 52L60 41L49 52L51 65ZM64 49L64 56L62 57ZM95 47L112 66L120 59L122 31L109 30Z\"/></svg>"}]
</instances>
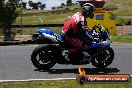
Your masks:
<instances>
[{"instance_id":1,"label":"helmeted rider in red and black leathers leaning forward","mask_svg":"<svg viewBox=\"0 0 132 88\"><path fill-rule=\"evenodd\" d=\"M68 50L69 53L75 53L82 49L87 49L88 44L92 42L92 38L86 34L86 18L94 17L95 7L90 3L82 6L82 11L75 13L63 26L62 35L69 45L73 48ZM85 42L85 39L89 41Z\"/></svg>"}]
</instances>

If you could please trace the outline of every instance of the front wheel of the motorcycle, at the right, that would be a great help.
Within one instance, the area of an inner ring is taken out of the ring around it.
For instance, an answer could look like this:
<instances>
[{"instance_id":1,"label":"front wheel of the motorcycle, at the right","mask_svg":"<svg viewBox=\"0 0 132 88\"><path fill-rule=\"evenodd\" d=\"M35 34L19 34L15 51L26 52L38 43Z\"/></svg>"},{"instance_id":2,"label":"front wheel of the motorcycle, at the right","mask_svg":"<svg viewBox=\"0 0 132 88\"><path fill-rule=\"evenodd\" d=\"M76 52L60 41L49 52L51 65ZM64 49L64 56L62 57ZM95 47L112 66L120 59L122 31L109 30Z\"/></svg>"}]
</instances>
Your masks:
<instances>
[{"instance_id":1,"label":"front wheel of the motorcycle, at the right","mask_svg":"<svg viewBox=\"0 0 132 88\"><path fill-rule=\"evenodd\" d=\"M114 59L114 51L111 47L97 50L97 55L92 58L91 63L97 68L105 68L110 65Z\"/></svg>"}]
</instances>

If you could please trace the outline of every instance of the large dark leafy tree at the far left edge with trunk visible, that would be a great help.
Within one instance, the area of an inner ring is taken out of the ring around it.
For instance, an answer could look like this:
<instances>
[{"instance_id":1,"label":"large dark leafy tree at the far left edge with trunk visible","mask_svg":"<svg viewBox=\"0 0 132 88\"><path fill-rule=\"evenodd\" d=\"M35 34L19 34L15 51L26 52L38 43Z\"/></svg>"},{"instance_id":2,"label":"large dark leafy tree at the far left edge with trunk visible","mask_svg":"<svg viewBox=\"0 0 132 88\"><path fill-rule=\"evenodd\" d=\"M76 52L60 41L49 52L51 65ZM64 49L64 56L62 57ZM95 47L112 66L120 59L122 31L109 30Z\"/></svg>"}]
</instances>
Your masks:
<instances>
[{"instance_id":1,"label":"large dark leafy tree at the far left edge with trunk visible","mask_svg":"<svg viewBox=\"0 0 132 88\"><path fill-rule=\"evenodd\" d=\"M19 14L19 12L16 11L16 6L14 0L8 2L0 0L0 24L3 27L5 41L11 40L11 25Z\"/></svg>"}]
</instances>

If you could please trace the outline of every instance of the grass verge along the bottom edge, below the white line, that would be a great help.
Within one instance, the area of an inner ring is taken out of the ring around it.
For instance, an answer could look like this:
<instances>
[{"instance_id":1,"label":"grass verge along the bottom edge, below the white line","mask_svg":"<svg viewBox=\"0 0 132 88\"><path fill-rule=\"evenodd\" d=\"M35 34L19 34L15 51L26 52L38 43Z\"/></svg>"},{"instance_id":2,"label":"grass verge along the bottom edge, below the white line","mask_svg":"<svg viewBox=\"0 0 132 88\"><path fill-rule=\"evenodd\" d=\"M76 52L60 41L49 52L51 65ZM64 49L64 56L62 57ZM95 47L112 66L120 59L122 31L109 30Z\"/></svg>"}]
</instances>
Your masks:
<instances>
[{"instance_id":1,"label":"grass verge along the bottom edge, below the white line","mask_svg":"<svg viewBox=\"0 0 132 88\"><path fill-rule=\"evenodd\" d=\"M76 80L0 83L0 88L132 88L129 84L77 84Z\"/></svg>"}]
</instances>

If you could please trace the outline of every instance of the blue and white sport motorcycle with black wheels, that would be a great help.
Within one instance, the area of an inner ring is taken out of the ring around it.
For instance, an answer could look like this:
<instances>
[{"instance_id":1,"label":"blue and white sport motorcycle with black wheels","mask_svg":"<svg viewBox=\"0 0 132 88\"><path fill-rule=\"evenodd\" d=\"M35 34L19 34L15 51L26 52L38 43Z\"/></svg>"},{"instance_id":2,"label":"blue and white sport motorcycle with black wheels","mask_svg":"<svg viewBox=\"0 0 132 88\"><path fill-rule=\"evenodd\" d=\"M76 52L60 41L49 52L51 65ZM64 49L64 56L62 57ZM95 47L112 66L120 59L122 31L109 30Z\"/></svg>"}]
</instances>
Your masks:
<instances>
[{"instance_id":1,"label":"blue and white sport motorcycle with black wheels","mask_svg":"<svg viewBox=\"0 0 132 88\"><path fill-rule=\"evenodd\" d=\"M70 47L66 44L61 34L56 34L50 29L39 29L36 33L38 40L48 44L42 44L36 47L31 54L33 65L42 70L49 70L56 63L85 65L92 63L97 68L105 68L110 65L114 59L114 51L111 48L110 35L108 31L100 26L97 33L94 29L87 29L87 34L93 37L88 50L82 50L75 54L69 54Z\"/></svg>"}]
</instances>

